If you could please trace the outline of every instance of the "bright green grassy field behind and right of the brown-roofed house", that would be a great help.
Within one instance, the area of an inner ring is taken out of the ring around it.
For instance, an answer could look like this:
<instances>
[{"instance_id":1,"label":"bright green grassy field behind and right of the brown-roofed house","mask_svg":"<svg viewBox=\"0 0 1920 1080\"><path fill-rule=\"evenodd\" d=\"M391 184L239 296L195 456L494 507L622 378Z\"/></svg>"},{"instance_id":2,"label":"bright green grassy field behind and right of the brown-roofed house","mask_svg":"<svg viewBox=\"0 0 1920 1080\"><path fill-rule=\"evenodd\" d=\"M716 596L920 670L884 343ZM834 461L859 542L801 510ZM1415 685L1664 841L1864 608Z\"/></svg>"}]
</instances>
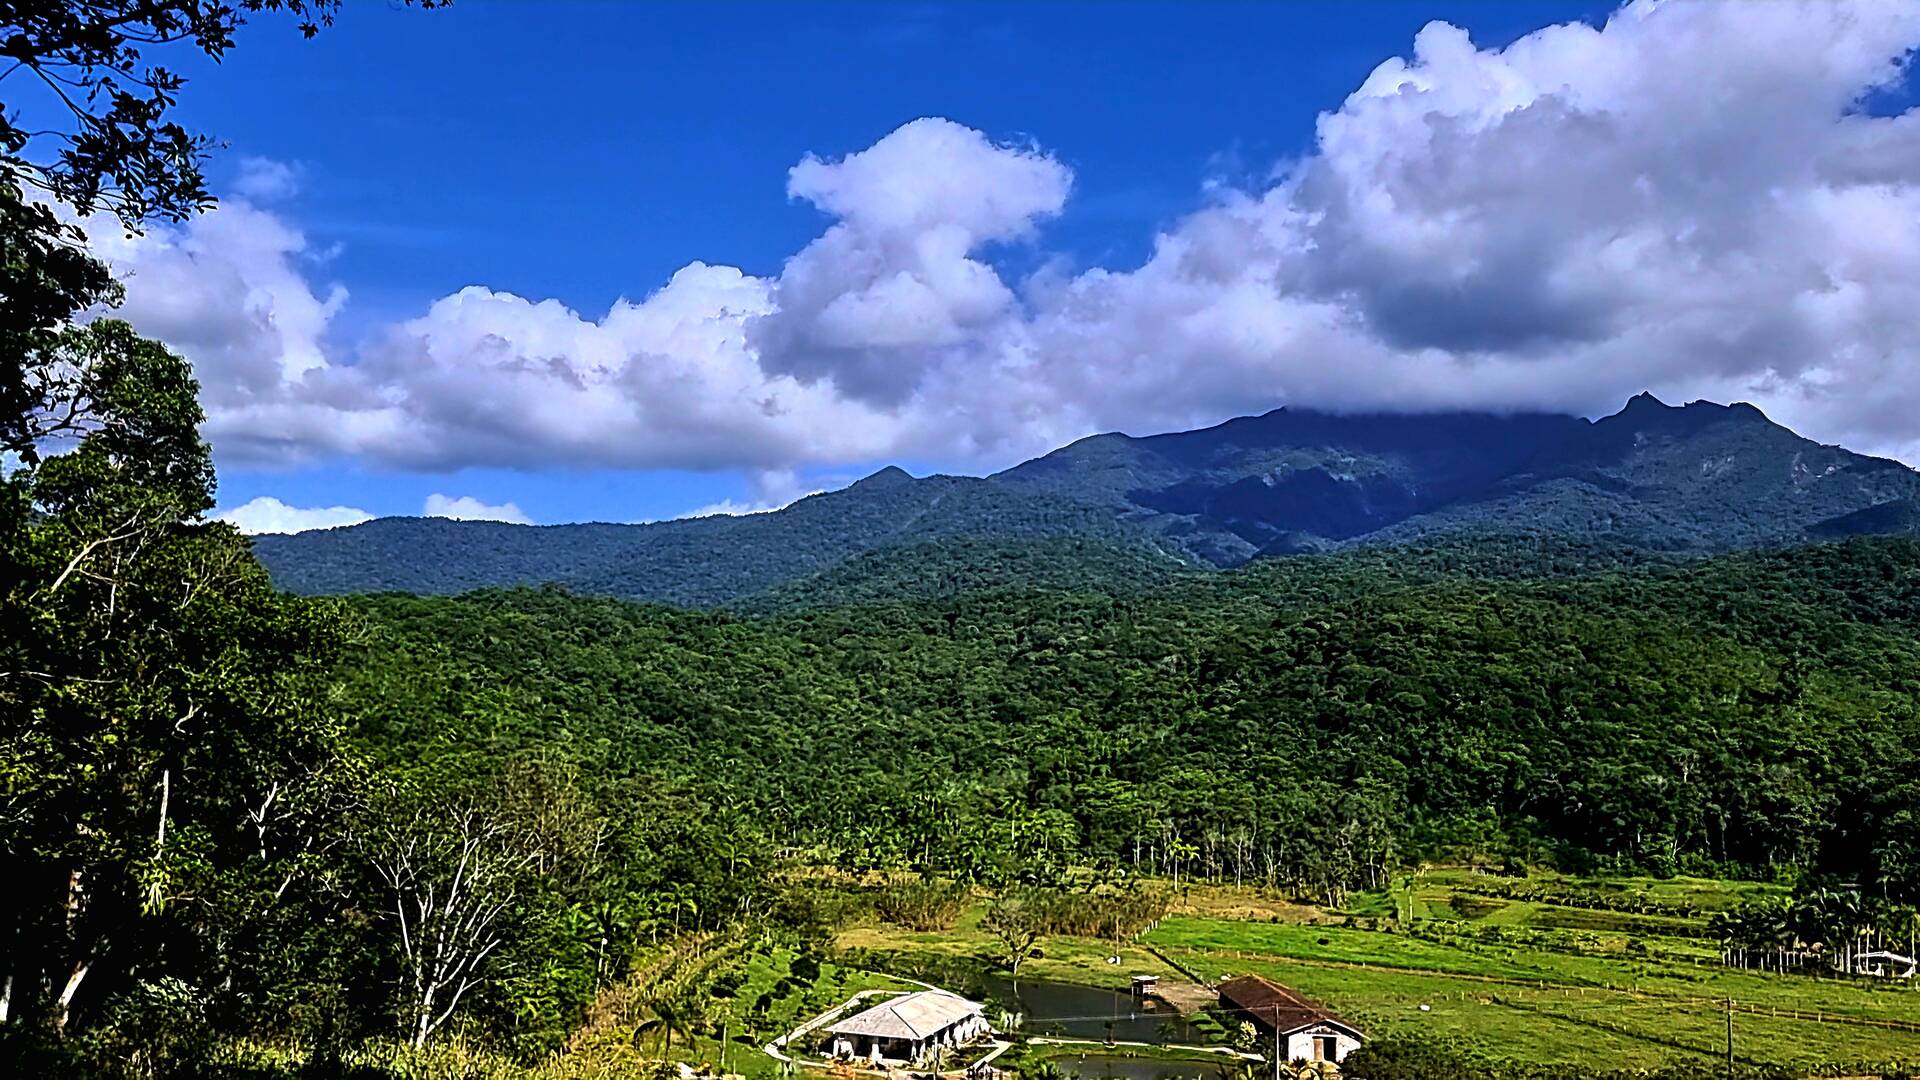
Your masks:
<instances>
[{"instance_id":1,"label":"bright green grassy field behind and right of the brown-roofed house","mask_svg":"<svg viewBox=\"0 0 1920 1080\"><path fill-rule=\"evenodd\" d=\"M1557 901L1490 896L1528 890ZM1256 972L1373 1036L1457 1036L1501 1057L1596 1068L1724 1061L1732 1003L1734 1053L1747 1063L1920 1063L1920 990L1718 965L1707 915L1778 892L1699 878L1513 882L1444 871L1327 911L1202 888L1140 942L1116 949L1048 938L1021 974L1112 986L1116 972L1202 982ZM939 934L856 926L837 945L895 970L977 969L995 951L977 920L975 909ZM1116 951L1121 963L1108 965Z\"/></svg>"}]
</instances>

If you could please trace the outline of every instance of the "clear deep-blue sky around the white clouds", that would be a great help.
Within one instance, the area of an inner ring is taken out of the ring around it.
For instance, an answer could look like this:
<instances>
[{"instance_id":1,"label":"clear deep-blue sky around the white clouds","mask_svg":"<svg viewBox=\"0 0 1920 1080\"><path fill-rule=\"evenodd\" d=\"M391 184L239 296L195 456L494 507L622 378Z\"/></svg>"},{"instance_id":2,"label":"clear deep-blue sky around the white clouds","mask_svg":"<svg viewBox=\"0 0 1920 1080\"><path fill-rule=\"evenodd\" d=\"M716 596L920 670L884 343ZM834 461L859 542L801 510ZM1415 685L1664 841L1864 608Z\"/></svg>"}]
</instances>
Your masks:
<instances>
[{"instance_id":1,"label":"clear deep-blue sky around the white clouds","mask_svg":"<svg viewBox=\"0 0 1920 1080\"><path fill-rule=\"evenodd\" d=\"M588 313L689 259L774 273L820 231L793 206L804 154L939 115L1035 138L1079 190L1046 248L1133 265L1221 175L1300 154L1313 117L1432 19L1503 44L1605 6L616 4L357 6L321 38L255 27L188 115L242 158L298 163L294 209L351 304L346 336L465 284ZM1014 252L1018 259L1021 252ZM914 471L939 463L908 461ZM877 463L876 463L877 467ZM828 469L820 482L860 475ZM733 471L547 467L413 475L323 463L223 469L221 503L417 513L430 492L534 521L670 517L749 500Z\"/></svg>"}]
</instances>

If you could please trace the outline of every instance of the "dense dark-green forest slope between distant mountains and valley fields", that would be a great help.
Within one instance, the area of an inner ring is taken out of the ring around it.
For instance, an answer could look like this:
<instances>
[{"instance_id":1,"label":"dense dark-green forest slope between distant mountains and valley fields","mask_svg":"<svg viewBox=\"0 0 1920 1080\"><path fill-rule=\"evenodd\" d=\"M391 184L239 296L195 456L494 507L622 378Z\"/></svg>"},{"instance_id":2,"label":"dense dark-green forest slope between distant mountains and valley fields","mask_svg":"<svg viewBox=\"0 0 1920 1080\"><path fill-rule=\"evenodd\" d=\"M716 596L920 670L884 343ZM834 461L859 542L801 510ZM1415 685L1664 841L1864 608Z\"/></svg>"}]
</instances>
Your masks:
<instances>
[{"instance_id":1,"label":"dense dark-green forest slope between distant mountains and valley fields","mask_svg":"<svg viewBox=\"0 0 1920 1080\"><path fill-rule=\"evenodd\" d=\"M1238 863L1302 884L1453 844L1920 867L1920 544L1548 578L1450 563L1356 552L774 619L365 598L349 701L378 746L559 748L854 861Z\"/></svg>"}]
</instances>

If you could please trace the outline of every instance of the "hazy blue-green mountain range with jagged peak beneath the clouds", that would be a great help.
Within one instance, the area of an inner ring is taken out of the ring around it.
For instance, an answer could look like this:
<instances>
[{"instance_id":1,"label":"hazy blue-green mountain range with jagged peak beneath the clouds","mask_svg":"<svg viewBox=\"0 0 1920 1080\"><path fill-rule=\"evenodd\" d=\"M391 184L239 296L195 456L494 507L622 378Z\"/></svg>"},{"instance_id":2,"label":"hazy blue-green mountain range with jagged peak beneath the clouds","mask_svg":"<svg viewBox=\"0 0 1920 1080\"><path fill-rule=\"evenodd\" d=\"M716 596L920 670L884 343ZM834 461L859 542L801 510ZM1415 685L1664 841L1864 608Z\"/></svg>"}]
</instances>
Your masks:
<instances>
[{"instance_id":1,"label":"hazy blue-green mountain range with jagged peak beneath the clouds","mask_svg":"<svg viewBox=\"0 0 1920 1080\"><path fill-rule=\"evenodd\" d=\"M655 525L524 527L382 519L261 536L296 592L432 592L557 582L678 605L766 605L845 582L877 559L1054 544L1079 569L1000 567L1014 580L1152 580L1260 555L1459 536L1559 536L1713 553L1910 532L1920 473L1820 446L1751 405L1619 413L1325 415L1275 409L1133 438L1100 434L987 479L885 469L781 511ZM1016 557L1014 563L1020 563ZM922 577L937 584L945 571ZM889 580L902 580L887 571ZM1064 575L1064 577L1062 577Z\"/></svg>"}]
</instances>

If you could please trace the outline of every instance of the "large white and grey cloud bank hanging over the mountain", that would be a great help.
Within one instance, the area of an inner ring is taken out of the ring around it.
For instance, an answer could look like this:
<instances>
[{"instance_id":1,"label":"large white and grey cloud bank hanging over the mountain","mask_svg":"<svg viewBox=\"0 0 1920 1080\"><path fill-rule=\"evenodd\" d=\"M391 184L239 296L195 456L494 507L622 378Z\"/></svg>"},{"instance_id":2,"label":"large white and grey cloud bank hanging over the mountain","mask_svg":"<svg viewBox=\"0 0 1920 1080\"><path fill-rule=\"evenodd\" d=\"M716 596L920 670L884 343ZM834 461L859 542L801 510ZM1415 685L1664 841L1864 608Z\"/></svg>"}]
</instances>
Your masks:
<instances>
[{"instance_id":1,"label":"large white and grey cloud bank hanging over the mountain","mask_svg":"<svg viewBox=\"0 0 1920 1080\"><path fill-rule=\"evenodd\" d=\"M1275 404L1594 413L1642 388L1920 461L1920 111L1866 108L1916 44L1920 6L1870 2L1634 2L1501 50L1432 23L1142 265L1020 279L995 254L1044 242L1071 171L918 119L793 167L831 225L778 275L691 261L599 319L468 286L351 356L346 290L267 208L294 171L92 236L232 465L995 467Z\"/></svg>"}]
</instances>

